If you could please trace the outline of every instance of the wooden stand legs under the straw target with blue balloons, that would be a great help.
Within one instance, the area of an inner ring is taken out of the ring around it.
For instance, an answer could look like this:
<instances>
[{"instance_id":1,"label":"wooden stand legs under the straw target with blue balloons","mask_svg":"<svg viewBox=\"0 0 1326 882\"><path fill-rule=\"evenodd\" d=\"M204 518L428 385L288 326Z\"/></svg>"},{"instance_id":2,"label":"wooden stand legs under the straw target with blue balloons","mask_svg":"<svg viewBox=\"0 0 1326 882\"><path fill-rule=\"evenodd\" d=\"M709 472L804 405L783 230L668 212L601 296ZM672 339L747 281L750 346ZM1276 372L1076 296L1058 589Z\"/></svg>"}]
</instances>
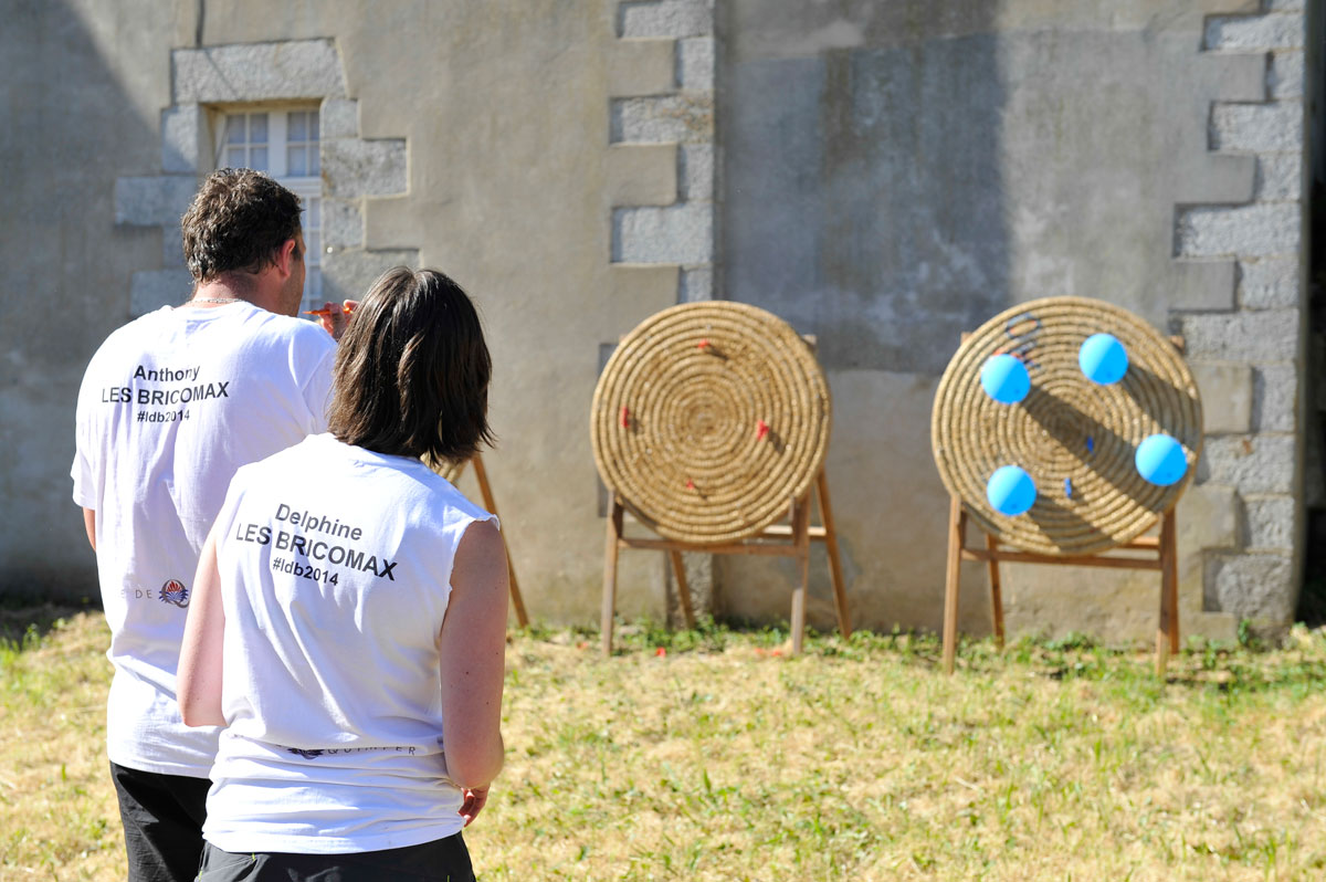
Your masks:
<instances>
[{"instance_id":1,"label":"wooden stand legs under the straw target with blue balloons","mask_svg":"<svg viewBox=\"0 0 1326 882\"><path fill-rule=\"evenodd\" d=\"M1159 536L1139 536L1115 552L1132 554L1070 554L1055 557L1037 552L1000 548L994 536L985 533L985 548L967 546L967 509L957 496L948 507L948 568L944 580L944 671L953 672L957 654L957 582L961 561L985 561L991 580L991 617L994 641L1004 649L1004 598L1000 590L1000 561L1009 564L1058 564L1061 566L1103 566L1110 569L1146 569L1160 572L1160 617L1156 623L1156 676L1164 676L1170 653L1179 651L1179 554L1175 515L1171 508L1160 516Z\"/></svg>"}]
</instances>

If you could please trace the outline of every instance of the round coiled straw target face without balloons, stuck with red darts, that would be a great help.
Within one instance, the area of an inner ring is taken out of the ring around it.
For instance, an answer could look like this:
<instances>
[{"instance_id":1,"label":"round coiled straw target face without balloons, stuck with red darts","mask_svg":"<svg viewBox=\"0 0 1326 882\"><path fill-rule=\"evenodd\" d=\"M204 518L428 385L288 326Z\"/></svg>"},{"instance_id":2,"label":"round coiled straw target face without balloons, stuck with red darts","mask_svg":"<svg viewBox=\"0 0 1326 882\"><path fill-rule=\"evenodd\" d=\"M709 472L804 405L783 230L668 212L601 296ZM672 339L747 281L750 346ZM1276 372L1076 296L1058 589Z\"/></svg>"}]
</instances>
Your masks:
<instances>
[{"instance_id":1,"label":"round coiled straw target face without balloons, stuck with red darts","mask_svg":"<svg viewBox=\"0 0 1326 882\"><path fill-rule=\"evenodd\" d=\"M667 538L754 536L805 493L829 446L829 386L781 318L672 306L627 334L594 390L598 472Z\"/></svg>"}]
</instances>

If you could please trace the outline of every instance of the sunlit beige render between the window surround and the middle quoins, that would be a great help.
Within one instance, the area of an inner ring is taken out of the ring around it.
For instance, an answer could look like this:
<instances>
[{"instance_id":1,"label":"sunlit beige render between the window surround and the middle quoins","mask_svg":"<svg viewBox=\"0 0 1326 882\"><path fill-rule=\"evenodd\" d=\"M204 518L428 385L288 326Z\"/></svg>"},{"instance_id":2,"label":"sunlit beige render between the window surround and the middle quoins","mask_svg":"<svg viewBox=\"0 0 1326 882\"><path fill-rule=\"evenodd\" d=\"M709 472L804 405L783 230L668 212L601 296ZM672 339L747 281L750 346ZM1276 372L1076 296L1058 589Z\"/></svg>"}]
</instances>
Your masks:
<instances>
[{"instance_id":1,"label":"sunlit beige render between the window surround and the middle quoins","mask_svg":"<svg viewBox=\"0 0 1326 882\"><path fill-rule=\"evenodd\" d=\"M203 29L204 45L332 37L358 137L404 141L404 192L359 203L363 259L412 251L477 301L500 439L485 464L525 605L550 621L598 610L603 521L587 424L599 345L676 301L675 269L667 289L611 264L627 183L614 172L611 95L640 73L615 54L615 27L606 1L335 0L273 13L211 0ZM471 480L460 488L473 493ZM658 561L623 557L619 586L622 614L662 614Z\"/></svg>"}]
</instances>

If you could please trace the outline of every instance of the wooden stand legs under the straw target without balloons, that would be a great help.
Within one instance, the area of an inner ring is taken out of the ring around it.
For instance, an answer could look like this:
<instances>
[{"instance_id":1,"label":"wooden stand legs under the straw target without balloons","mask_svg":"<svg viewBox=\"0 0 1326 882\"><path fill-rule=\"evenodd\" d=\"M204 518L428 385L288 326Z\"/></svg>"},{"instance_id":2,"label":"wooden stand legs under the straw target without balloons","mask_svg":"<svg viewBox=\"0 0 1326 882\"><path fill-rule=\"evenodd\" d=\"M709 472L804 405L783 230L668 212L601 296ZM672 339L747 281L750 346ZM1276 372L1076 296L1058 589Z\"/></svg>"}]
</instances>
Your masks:
<instances>
[{"instance_id":1,"label":"wooden stand legs under the straw target without balloons","mask_svg":"<svg viewBox=\"0 0 1326 882\"><path fill-rule=\"evenodd\" d=\"M699 545L671 538L635 538L625 536L622 521L625 508L615 491L607 512L607 544L603 552L603 607L602 634L603 655L613 653L613 614L617 607L617 554L623 548L648 548L667 552L676 577L676 593L682 602L682 615L687 627L695 626L695 610L691 606L691 589L686 581L686 566L682 552L703 552L705 554L772 554L794 557L800 566L801 580L792 592L792 654L801 651L806 630L806 585L810 581L810 540L825 544L829 553L829 576L833 580L834 606L838 613L838 630L843 637L851 637L851 621L847 614L847 593L843 588L842 562L838 557L838 535L834 532L833 509L829 505L829 481L821 466L814 483L793 500L789 511L789 524L773 524L758 535L740 542L724 545ZM819 504L819 525L810 524L810 497Z\"/></svg>"}]
</instances>

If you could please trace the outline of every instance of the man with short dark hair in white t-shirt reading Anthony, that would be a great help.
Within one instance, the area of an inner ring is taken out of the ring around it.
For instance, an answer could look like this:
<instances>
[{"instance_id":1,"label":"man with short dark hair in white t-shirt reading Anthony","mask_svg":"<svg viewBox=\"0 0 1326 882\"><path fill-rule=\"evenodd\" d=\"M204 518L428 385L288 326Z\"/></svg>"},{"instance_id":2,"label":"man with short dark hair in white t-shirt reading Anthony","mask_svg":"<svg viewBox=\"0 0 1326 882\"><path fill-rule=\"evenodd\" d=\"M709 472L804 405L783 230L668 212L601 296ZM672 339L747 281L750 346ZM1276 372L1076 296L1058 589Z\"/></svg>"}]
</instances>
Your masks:
<instances>
[{"instance_id":1,"label":"man with short dark hair in white t-shirt reading Anthony","mask_svg":"<svg viewBox=\"0 0 1326 882\"><path fill-rule=\"evenodd\" d=\"M133 882L198 870L216 729L186 727L175 700L190 582L235 470L325 431L335 354L324 329L296 318L294 194L225 168L182 227L192 297L93 355L72 470L111 631L107 753Z\"/></svg>"}]
</instances>

